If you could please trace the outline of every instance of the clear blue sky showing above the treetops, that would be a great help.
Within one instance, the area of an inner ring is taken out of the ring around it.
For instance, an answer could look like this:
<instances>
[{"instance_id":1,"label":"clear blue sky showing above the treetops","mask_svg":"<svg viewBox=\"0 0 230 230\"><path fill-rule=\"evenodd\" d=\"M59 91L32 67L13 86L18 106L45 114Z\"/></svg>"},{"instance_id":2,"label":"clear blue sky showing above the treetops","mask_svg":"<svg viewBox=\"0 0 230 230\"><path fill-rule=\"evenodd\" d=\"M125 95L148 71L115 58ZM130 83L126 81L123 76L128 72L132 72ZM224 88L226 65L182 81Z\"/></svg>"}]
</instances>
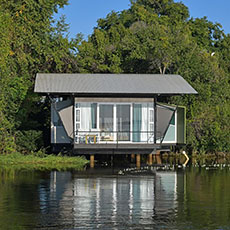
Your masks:
<instances>
[{"instance_id":1,"label":"clear blue sky showing above the treetops","mask_svg":"<svg viewBox=\"0 0 230 230\"><path fill-rule=\"evenodd\" d=\"M179 2L179 0L175 0ZM230 33L230 0L182 0L188 6L191 17L207 16L212 22L219 22ZM83 33L85 38L93 32L99 18L112 10L122 11L130 6L129 0L69 0L69 5L60 9L56 17L65 14L70 24L69 37Z\"/></svg>"}]
</instances>

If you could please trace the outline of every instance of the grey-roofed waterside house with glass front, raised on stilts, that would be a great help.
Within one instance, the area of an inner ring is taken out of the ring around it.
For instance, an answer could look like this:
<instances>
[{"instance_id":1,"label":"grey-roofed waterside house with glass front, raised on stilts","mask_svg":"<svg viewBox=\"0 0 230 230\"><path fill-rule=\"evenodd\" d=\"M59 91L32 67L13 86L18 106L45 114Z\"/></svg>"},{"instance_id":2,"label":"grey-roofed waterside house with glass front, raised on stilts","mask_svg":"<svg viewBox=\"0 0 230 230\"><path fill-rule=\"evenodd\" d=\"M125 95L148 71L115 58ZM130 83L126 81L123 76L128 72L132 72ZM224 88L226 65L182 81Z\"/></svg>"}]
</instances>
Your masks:
<instances>
[{"instance_id":1,"label":"grey-roofed waterside house with glass front, raised on stilts","mask_svg":"<svg viewBox=\"0 0 230 230\"><path fill-rule=\"evenodd\" d=\"M186 110L158 103L197 94L179 75L37 74L51 100L51 144L77 154L153 153L186 143Z\"/></svg>"}]
</instances>

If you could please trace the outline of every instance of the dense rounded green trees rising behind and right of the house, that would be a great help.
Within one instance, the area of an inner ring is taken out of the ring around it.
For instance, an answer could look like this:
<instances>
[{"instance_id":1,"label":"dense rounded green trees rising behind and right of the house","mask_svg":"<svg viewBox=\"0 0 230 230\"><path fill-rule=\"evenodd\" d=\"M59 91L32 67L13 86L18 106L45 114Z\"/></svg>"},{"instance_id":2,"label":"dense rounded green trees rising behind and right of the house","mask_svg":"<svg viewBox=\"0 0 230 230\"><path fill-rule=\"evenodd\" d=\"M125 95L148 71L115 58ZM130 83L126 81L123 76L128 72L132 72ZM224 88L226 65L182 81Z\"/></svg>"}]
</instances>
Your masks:
<instances>
[{"instance_id":1,"label":"dense rounded green trees rising behind and right of the house","mask_svg":"<svg viewBox=\"0 0 230 230\"><path fill-rule=\"evenodd\" d=\"M168 99L188 108L190 152L230 150L230 35L189 18L173 0L136 0L99 19L77 55L81 72L180 74L198 96Z\"/></svg>"}]
</instances>

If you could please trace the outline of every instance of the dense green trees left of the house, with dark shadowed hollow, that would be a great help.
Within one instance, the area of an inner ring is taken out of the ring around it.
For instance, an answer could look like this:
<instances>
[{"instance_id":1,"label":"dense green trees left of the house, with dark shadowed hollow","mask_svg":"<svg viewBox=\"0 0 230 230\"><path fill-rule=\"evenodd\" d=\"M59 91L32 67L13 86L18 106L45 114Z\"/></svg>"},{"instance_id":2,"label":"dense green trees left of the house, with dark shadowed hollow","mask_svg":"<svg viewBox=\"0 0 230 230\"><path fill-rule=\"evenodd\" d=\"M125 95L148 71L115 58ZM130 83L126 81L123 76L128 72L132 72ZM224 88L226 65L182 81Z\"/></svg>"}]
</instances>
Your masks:
<instances>
[{"instance_id":1,"label":"dense green trees left of the house, with dark shadowed hollow","mask_svg":"<svg viewBox=\"0 0 230 230\"><path fill-rule=\"evenodd\" d=\"M49 123L47 103L33 93L35 74L76 71L64 21L52 19L67 0L0 3L0 152L36 151Z\"/></svg>"}]
</instances>

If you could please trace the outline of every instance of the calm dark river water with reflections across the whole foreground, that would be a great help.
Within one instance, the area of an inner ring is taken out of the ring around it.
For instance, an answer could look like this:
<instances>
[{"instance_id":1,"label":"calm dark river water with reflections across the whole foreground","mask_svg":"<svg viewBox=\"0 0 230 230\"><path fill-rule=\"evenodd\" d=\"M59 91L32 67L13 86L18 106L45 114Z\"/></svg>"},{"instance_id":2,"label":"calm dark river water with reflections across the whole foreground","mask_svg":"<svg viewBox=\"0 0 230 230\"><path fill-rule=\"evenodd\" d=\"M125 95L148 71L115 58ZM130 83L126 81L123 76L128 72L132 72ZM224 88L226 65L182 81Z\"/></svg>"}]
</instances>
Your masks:
<instances>
[{"instance_id":1,"label":"calm dark river water with reflections across the whole foreground","mask_svg":"<svg viewBox=\"0 0 230 230\"><path fill-rule=\"evenodd\" d=\"M0 170L0 229L230 229L230 170Z\"/></svg>"}]
</instances>

